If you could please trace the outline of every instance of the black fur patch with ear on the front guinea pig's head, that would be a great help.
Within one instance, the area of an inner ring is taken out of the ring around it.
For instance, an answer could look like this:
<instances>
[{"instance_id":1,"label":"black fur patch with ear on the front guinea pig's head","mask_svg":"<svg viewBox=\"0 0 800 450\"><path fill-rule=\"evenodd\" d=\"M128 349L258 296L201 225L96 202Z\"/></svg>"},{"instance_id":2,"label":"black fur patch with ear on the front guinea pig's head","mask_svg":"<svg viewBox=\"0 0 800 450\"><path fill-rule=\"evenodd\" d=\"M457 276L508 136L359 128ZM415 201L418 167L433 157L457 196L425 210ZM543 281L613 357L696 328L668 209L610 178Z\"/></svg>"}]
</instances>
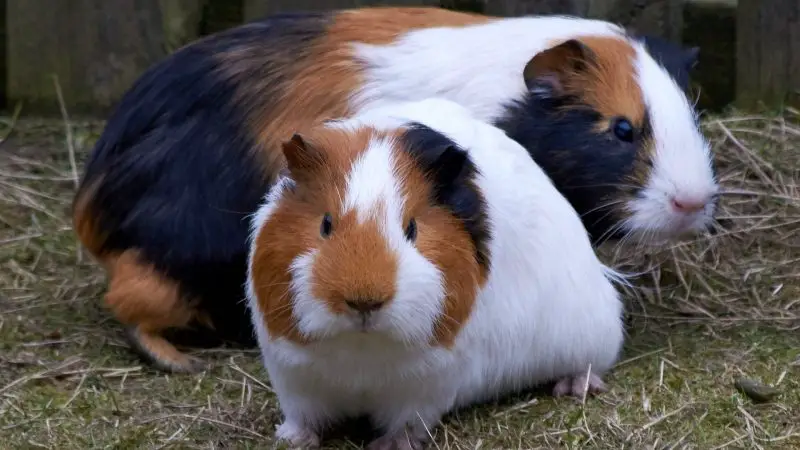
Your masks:
<instances>
[{"instance_id":1,"label":"black fur patch with ear on the front guinea pig's head","mask_svg":"<svg viewBox=\"0 0 800 450\"><path fill-rule=\"evenodd\" d=\"M464 223L475 245L475 259L488 272L491 230L486 201L475 183L477 167L458 144L425 125L412 123L402 139L409 154L434 182L432 200Z\"/></svg>"}]
</instances>

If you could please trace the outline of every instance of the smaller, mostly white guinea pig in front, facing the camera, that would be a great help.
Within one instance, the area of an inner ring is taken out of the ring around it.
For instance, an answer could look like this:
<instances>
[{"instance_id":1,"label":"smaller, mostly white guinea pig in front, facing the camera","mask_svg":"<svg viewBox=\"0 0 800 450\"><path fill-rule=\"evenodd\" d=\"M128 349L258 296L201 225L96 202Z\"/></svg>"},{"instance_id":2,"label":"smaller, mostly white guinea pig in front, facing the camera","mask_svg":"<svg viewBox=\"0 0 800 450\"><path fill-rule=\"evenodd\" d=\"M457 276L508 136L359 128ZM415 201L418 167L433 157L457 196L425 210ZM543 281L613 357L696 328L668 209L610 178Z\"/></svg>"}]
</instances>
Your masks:
<instances>
[{"instance_id":1,"label":"smaller, mostly white guinea pig in front, facing the camera","mask_svg":"<svg viewBox=\"0 0 800 450\"><path fill-rule=\"evenodd\" d=\"M443 99L330 121L283 146L252 221L248 299L285 416L319 444L368 415L369 448L421 448L453 408L556 382L605 389L618 275L526 150Z\"/></svg>"}]
</instances>

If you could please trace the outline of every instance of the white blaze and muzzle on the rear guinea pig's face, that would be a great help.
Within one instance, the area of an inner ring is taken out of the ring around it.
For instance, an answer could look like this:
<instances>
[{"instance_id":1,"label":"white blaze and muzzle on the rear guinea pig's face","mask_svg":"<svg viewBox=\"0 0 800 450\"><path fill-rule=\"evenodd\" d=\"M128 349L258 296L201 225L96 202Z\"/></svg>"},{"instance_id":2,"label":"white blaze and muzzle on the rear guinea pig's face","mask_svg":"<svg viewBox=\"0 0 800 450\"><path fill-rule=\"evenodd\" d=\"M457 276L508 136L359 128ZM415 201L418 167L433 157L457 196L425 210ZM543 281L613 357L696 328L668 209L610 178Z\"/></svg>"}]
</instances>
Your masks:
<instances>
[{"instance_id":1,"label":"white blaze and muzzle on the rear guinea pig's face","mask_svg":"<svg viewBox=\"0 0 800 450\"><path fill-rule=\"evenodd\" d=\"M712 200L719 189L709 144L681 88L642 44L636 44L636 50L635 67L650 114L655 158L642 198L629 204L628 229L656 240L703 230L712 220ZM706 207L683 214L672 209L673 199L705 202Z\"/></svg>"}]
</instances>

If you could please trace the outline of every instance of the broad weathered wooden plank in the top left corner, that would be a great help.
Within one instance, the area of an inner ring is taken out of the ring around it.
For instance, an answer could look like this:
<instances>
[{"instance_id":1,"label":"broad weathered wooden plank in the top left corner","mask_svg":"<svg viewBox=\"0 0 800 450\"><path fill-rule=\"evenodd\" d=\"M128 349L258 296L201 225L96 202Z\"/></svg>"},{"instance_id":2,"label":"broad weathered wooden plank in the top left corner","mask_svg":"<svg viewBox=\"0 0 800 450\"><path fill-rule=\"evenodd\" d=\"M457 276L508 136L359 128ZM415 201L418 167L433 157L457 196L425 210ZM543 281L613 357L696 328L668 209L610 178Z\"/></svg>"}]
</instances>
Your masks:
<instances>
[{"instance_id":1,"label":"broad weathered wooden plank in the top left corner","mask_svg":"<svg viewBox=\"0 0 800 450\"><path fill-rule=\"evenodd\" d=\"M159 0L8 0L8 94L25 110L106 114L162 58Z\"/></svg>"}]
</instances>

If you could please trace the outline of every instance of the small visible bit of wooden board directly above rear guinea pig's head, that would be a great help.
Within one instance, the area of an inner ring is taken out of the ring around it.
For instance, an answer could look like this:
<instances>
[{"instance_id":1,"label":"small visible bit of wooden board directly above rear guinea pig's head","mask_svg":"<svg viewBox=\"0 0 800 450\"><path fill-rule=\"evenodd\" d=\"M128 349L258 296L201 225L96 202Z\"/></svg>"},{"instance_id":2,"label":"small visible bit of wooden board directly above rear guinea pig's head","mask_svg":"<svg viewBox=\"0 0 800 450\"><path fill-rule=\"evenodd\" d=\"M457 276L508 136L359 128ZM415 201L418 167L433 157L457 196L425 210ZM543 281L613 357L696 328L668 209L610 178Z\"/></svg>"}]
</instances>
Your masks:
<instances>
[{"instance_id":1,"label":"small visible bit of wooden board directly above rear guinea pig's head","mask_svg":"<svg viewBox=\"0 0 800 450\"><path fill-rule=\"evenodd\" d=\"M681 42L684 0L589 0L587 15Z\"/></svg>"}]
</instances>

